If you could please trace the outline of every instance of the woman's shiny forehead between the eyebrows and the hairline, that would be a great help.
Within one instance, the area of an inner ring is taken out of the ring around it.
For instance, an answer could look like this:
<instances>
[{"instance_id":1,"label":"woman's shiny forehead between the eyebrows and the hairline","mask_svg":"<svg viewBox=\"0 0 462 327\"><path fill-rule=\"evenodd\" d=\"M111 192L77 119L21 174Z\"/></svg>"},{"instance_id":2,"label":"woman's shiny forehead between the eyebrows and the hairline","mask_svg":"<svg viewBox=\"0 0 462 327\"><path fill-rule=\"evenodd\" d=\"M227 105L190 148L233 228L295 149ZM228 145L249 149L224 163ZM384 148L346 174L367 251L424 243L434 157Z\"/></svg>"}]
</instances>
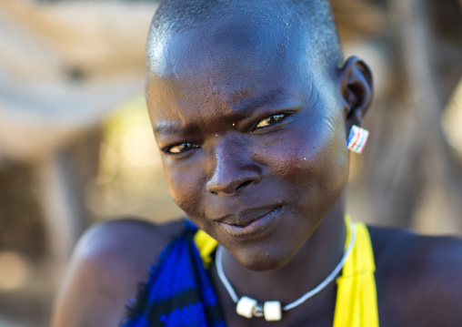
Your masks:
<instances>
[{"instance_id":1,"label":"woman's shiny forehead between the eyebrows and the hairline","mask_svg":"<svg viewBox=\"0 0 462 327\"><path fill-rule=\"evenodd\" d=\"M256 98L307 98L317 75L309 40L283 21L256 19L252 12L167 32L148 49L147 64L148 105L155 120L185 106L203 110Z\"/></svg>"}]
</instances>

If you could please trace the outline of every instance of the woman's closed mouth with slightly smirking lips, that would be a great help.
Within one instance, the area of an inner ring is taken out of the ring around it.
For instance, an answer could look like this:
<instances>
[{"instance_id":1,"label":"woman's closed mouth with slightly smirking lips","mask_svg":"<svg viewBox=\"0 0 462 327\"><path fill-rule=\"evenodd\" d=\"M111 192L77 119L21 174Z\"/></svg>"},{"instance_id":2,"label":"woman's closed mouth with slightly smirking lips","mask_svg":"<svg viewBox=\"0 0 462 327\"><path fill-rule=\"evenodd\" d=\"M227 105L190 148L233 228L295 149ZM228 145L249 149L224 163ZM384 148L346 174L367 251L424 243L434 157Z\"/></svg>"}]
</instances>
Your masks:
<instances>
[{"instance_id":1,"label":"woman's closed mouth with slightly smirking lips","mask_svg":"<svg viewBox=\"0 0 462 327\"><path fill-rule=\"evenodd\" d=\"M246 210L237 216L226 217L216 222L235 238L244 238L262 234L282 212L283 206L272 209Z\"/></svg>"}]
</instances>

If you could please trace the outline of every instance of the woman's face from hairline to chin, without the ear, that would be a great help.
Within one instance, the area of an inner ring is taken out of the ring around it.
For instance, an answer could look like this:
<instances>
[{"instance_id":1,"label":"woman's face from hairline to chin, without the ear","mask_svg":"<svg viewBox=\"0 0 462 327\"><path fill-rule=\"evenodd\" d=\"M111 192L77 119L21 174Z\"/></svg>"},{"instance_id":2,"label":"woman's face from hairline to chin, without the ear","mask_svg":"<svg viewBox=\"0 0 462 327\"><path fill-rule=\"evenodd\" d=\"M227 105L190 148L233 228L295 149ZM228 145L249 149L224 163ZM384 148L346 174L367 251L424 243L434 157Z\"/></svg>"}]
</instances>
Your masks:
<instances>
[{"instance_id":1,"label":"woman's face from hairline to chin, without the ear","mask_svg":"<svg viewBox=\"0 0 462 327\"><path fill-rule=\"evenodd\" d=\"M344 189L346 118L332 78L239 46L246 31L178 37L168 65L150 67L147 101L176 204L264 271L296 254Z\"/></svg>"}]
</instances>

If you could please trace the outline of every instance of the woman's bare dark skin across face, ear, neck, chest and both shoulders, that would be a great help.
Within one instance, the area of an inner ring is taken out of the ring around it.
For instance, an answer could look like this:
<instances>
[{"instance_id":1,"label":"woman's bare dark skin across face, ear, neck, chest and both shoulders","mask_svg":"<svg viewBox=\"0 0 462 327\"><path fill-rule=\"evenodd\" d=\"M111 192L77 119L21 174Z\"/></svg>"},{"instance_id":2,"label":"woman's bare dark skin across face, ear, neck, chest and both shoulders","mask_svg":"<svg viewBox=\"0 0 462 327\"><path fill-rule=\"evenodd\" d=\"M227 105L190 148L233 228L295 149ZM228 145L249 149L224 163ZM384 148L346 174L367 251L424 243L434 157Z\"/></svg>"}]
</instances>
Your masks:
<instances>
[{"instance_id":1,"label":"woman's bare dark skin across face, ear, neck, chest and both shoulders","mask_svg":"<svg viewBox=\"0 0 462 327\"><path fill-rule=\"evenodd\" d=\"M303 53L276 55L271 49L285 41L249 21L224 19L170 38L148 62L147 101L170 193L225 247L237 294L288 303L342 256L347 131L367 112L372 78L357 57L320 65L309 42ZM248 46L254 38L264 45L257 52ZM146 268L182 228L123 220L90 230L53 326L115 326ZM369 230L380 326L459 326L461 240ZM215 267L210 275L228 326L269 325L236 315ZM332 326L335 301L333 282L271 325Z\"/></svg>"}]
</instances>

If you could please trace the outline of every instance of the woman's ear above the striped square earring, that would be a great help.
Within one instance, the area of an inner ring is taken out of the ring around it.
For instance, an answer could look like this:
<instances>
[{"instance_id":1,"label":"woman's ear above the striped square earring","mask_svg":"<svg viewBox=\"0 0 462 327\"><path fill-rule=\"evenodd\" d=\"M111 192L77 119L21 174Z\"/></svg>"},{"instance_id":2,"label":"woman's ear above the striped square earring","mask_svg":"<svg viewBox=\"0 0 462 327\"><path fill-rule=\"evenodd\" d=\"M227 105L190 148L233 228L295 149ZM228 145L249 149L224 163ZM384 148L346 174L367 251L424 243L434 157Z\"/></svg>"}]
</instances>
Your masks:
<instances>
[{"instance_id":1,"label":"woman's ear above the striped square earring","mask_svg":"<svg viewBox=\"0 0 462 327\"><path fill-rule=\"evenodd\" d=\"M341 68L339 77L349 132L351 126L361 126L367 109L372 103L374 94L372 72L364 61L357 56L351 56Z\"/></svg>"}]
</instances>

